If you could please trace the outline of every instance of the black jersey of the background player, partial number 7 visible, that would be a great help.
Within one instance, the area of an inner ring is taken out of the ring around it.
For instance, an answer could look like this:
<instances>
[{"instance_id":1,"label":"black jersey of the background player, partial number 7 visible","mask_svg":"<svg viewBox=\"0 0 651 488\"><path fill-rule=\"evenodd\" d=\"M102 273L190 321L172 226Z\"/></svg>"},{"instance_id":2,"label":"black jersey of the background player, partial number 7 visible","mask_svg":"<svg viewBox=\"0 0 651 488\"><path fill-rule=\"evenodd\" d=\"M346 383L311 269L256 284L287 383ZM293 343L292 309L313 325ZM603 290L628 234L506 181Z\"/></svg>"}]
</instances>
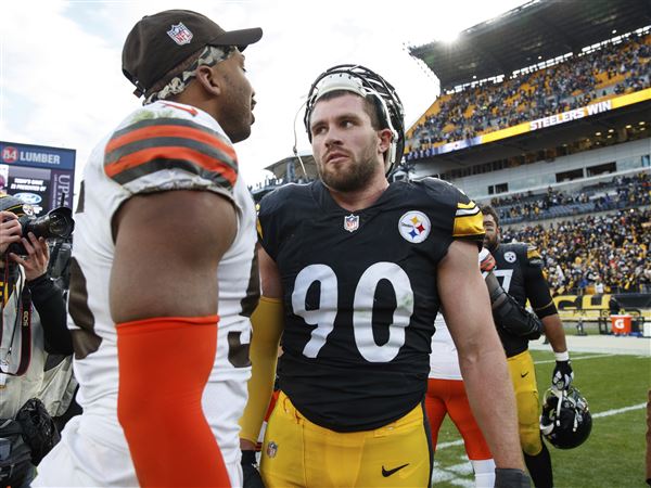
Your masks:
<instances>
[{"instance_id":1,"label":"black jersey of the background player, partial number 7 visible","mask_svg":"<svg viewBox=\"0 0 651 488\"><path fill-rule=\"evenodd\" d=\"M557 313L549 285L542 274L542 259L536 246L521 242L499 244L492 254L496 262L493 273L509 295L523 307L528 299L540 319ZM526 338L509 334L501 328L497 332L508 358L527 349Z\"/></svg>"}]
</instances>

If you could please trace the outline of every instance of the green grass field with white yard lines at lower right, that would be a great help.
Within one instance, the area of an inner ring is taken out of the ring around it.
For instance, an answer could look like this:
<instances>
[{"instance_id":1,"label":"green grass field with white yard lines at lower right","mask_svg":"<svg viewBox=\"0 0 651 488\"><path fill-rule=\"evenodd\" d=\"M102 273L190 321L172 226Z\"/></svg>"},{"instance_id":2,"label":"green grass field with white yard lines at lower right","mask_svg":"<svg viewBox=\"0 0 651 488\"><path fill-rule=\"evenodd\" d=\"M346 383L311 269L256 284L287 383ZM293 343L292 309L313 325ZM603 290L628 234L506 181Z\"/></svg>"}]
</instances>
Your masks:
<instances>
[{"instance_id":1,"label":"green grass field with white yard lines at lower right","mask_svg":"<svg viewBox=\"0 0 651 488\"><path fill-rule=\"evenodd\" d=\"M549 387L551 351L532 351L540 397ZM576 449L548 444L558 488L647 487L646 402L651 388L651 358L591 352L572 355L574 385L588 400L592 433ZM446 418L434 458L435 487L474 487L472 468L455 425Z\"/></svg>"}]
</instances>

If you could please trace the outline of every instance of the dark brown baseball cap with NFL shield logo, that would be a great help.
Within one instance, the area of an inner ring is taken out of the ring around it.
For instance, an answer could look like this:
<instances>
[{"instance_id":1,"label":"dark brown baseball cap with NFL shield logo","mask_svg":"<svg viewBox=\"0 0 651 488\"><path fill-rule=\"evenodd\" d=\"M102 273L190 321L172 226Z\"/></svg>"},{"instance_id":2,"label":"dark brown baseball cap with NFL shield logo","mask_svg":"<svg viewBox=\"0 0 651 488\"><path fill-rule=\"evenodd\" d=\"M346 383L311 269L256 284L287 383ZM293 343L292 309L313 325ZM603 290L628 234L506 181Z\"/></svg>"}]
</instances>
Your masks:
<instances>
[{"instance_id":1,"label":"dark brown baseball cap with NFL shield logo","mask_svg":"<svg viewBox=\"0 0 651 488\"><path fill-rule=\"evenodd\" d=\"M166 10L133 26L123 48L123 73L140 97L205 46L237 46L242 51L261 37L259 27L227 31L200 13Z\"/></svg>"}]
</instances>

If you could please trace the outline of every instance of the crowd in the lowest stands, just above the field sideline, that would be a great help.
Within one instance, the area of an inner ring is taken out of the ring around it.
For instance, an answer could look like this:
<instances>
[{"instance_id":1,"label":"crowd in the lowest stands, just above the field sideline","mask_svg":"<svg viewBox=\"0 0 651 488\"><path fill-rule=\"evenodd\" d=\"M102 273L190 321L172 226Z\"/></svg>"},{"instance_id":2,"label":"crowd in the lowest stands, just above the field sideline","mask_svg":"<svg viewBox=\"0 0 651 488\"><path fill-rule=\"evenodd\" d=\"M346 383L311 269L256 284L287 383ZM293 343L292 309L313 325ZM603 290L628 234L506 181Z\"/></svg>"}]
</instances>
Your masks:
<instances>
[{"instance_id":1,"label":"crowd in the lowest stands, just above the field sideline","mask_svg":"<svg viewBox=\"0 0 651 488\"><path fill-rule=\"evenodd\" d=\"M503 239L538 246L553 295L651 293L649 208L507 228Z\"/></svg>"}]
</instances>

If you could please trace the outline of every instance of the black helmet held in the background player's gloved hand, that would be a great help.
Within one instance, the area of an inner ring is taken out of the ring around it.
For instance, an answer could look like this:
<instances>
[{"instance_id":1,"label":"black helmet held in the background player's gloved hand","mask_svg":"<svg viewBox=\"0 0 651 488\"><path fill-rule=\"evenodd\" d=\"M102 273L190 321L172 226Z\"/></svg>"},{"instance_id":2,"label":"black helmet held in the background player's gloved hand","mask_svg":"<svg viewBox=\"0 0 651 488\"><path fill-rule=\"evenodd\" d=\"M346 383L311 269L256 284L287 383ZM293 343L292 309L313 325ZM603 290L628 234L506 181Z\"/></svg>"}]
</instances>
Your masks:
<instances>
[{"instance_id":1,"label":"black helmet held in the background player's gloved hand","mask_svg":"<svg viewBox=\"0 0 651 488\"><path fill-rule=\"evenodd\" d=\"M574 449L586 441L592 429L588 402L578 389L549 388L542 397L540 432L559 449Z\"/></svg>"}]
</instances>

